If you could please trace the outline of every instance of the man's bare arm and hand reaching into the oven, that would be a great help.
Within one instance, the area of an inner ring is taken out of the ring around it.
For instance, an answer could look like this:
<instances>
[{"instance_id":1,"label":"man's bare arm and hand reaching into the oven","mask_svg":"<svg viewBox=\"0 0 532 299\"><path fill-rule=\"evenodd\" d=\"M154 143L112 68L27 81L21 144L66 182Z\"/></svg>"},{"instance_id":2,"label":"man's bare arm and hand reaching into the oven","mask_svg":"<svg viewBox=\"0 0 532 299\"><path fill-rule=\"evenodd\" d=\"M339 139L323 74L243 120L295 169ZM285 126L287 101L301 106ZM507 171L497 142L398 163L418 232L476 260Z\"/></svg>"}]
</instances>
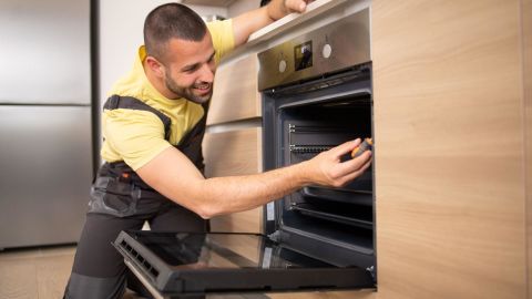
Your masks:
<instances>
[{"instance_id":1,"label":"man's bare arm and hand reaching into the oven","mask_svg":"<svg viewBox=\"0 0 532 299\"><path fill-rule=\"evenodd\" d=\"M341 162L360 140L346 142L311 159L248 176L205 179L192 162L168 147L136 172L154 189L204 218L262 206L308 185L339 187L358 177L371 152Z\"/></svg>"}]
</instances>

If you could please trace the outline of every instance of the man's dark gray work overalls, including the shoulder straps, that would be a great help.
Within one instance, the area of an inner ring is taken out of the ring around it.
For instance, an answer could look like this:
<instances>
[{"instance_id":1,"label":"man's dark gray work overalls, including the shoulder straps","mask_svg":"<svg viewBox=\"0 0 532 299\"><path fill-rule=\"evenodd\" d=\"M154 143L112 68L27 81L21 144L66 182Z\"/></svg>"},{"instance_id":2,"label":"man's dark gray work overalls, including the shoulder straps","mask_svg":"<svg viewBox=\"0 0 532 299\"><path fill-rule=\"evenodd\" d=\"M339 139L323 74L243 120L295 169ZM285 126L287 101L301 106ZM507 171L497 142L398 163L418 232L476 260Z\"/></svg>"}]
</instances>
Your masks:
<instances>
[{"instance_id":1,"label":"man's dark gray work overalls, including the shoulder straps","mask_svg":"<svg viewBox=\"0 0 532 299\"><path fill-rule=\"evenodd\" d=\"M165 138L170 137L170 117L140 100L113 95L104 109L152 112L163 122ZM202 120L175 146L202 173L206 105L204 110ZM147 297L142 285L126 269L123 257L111 245L121 230L141 229L146 220L152 230L208 230L206 220L154 190L124 162L104 163L91 188L89 212L64 298L122 298L125 287Z\"/></svg>"}]
</instances>

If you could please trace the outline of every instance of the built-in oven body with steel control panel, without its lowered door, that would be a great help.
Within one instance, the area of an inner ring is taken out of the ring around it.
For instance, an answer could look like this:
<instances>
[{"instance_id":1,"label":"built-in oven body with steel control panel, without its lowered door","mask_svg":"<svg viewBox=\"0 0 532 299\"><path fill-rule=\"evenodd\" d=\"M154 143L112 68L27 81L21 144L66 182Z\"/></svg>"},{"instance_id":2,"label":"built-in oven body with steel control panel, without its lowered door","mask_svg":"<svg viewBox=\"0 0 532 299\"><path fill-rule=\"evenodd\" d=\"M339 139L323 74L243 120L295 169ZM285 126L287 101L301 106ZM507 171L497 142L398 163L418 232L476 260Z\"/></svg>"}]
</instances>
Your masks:
<instances>
[{"instance_id":1,"label":"built-in oven body with steel control panel, without its lowered door","mask_svg":"<svg viewBox=\"0 0 532 299\"><path fill-rule=\"evenodd\" d=\"M266 169L374 136L368 10L274 47L258 59ZM265 219L267 234L285 246L375 276L372 168L342 188L307 186L270 203Z\"/></svg>"}]
</instances>

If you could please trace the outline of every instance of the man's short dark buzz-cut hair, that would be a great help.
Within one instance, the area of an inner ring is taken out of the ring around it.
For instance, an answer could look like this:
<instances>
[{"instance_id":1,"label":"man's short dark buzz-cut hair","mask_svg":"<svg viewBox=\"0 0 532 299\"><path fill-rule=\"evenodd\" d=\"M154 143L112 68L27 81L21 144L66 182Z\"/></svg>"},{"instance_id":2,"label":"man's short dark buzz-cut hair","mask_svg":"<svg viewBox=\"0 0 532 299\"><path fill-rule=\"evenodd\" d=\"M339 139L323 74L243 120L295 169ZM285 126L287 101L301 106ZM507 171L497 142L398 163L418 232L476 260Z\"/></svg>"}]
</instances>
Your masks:
<instances>
[{"instance_id":1,"label":"man's short dark buzz-cut hair","mask_svg":"<svg viewBox=\"0 0 532 299\"><path fill-rule=\"evenodd\" d=\"M171 39L202 41L207 27L192 9L167 3L152 10L144 22L144 44L149 55L162 61Z\"/></svg>"}]
</instances>

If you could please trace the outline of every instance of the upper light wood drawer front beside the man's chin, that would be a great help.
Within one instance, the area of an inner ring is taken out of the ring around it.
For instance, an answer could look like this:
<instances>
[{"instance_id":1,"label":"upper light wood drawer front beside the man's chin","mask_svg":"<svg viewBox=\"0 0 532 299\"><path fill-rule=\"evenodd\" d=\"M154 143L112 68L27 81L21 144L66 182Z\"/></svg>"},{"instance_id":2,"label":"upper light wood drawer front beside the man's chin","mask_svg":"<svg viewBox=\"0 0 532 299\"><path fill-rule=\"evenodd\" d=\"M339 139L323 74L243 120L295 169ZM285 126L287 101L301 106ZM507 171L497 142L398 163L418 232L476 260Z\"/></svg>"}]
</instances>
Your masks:
<instances>
[{"instance_id":1,"label":"upper light wood drawer front beside the man's chin","mask_svg":"<svg viewBox=\"0 0 532 299\"><path fill-rule=\"evenodd\" d=\"M257 69L256 54L218 68L207 124L260 117Z\"/></svg>"}]
</instances>

